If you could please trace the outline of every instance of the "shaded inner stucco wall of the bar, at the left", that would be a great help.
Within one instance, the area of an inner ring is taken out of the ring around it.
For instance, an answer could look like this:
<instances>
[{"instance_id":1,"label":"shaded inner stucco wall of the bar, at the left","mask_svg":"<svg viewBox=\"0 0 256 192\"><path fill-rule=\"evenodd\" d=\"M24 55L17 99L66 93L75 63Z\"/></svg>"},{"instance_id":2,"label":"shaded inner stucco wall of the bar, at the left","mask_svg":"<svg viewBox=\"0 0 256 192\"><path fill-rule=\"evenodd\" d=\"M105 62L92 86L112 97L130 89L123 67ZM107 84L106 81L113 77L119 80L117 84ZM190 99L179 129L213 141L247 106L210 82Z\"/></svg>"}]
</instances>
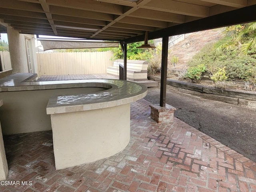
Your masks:
<instances>
[{"instance_id":1,"label":"shaded inner stucco wall of the bar, at the left","mask_svg":"<svg viewBox=\"0 0 256 192\"><path fill-rule=\"evenodd\" d=\"M51 96L96 93L106 88L64 88L48 90L0 92L4 105L0 107L3 134L20 134L51 129L46 106Z\"/></svg>"}]
</instances>

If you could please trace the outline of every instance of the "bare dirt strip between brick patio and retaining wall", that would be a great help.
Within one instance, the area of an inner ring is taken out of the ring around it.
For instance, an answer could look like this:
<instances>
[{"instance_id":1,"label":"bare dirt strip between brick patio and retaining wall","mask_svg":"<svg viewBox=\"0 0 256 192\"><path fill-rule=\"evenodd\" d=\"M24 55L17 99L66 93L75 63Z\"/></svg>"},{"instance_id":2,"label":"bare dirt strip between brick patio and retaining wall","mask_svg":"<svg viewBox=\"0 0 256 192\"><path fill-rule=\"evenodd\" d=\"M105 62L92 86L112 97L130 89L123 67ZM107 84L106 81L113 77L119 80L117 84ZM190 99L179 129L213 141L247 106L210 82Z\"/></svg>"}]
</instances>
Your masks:
<instances>
[{"instance_id":1,"label":"bare dirt strip between brick patio and retaining wall","mask_svg":"<svg viewBox=\"0 0 256 192\"><path fill-rule=\"evenodd\" d=\"M144 98L159 104L160 87L148 88ZM168 89L166 103L174 116L256 162L256 110L199 98Z\"/></svg>"}]
</instances>

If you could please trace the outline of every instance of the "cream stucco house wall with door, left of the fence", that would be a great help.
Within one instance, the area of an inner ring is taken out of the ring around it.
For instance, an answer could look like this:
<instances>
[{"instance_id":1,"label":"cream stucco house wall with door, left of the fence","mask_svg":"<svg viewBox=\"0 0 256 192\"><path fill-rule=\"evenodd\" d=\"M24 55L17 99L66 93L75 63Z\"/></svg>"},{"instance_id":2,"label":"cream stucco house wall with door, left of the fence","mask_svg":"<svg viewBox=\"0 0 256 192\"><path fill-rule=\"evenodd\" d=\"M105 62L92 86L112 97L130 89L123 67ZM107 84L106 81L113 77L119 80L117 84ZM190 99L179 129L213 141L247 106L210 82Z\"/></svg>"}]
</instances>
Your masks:
<instances>
[{"instance_id":1,"label":"cream stucco house wall with door, left of the fence","mask_svg":"<svg viewBox=\"0 0 256 192\"><path fill-rule=\"evenodd\" d=\"M37 73L37 60L36 60L36 48L34 35L20 34L18 31L7 27L8 41L10 56L12 62L12 74L14 73L28 73L28 61L26 55L25 38L31 40L31 60L33 63L32 70Z\"/></svg>"}]
</instances>

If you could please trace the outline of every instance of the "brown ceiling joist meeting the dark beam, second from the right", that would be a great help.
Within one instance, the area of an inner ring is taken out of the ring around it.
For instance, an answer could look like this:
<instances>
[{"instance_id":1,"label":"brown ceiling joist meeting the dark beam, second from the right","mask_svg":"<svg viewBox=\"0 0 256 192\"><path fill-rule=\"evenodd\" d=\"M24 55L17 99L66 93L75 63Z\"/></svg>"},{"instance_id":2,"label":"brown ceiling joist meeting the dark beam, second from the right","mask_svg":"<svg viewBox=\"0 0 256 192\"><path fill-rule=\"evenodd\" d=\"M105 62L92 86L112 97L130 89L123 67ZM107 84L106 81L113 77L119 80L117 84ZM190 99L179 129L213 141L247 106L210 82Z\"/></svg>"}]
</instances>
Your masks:
<instances>
[{"instance_id":1,"label":"brown ceiling joist meeting the dark beam, second from the right","mask_svg":"<svg viewBox=\"0 0 256 192\"><path fill-rule=\"evenodd\" d=\"M159 0L152 0L142 8L195 17L209 16L209 7L174 0L161 0L161 3L159 3Z\"/></svg>"}]
</instances>

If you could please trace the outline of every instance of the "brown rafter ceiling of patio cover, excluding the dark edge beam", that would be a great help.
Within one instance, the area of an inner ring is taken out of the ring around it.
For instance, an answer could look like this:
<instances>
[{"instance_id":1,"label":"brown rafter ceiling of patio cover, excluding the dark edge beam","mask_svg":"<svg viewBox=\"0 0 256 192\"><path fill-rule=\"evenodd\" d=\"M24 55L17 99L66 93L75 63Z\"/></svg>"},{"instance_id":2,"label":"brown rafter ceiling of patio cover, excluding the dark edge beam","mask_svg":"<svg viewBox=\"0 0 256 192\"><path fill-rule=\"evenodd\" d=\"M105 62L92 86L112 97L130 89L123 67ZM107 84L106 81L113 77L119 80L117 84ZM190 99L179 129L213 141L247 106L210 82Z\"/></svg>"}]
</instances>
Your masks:
<instances>
[{"instance_id":1,"label":"brown rafter ceiling of patio cover, excluding the dark edge beam","mask_svg":"<svg viewBox=\"0 0 256 192\"><path fill-rule=\"evenodd\" d=\"M21 33L44 34L44 26L38 24L48 24L54 35L81 37L63 31L69 28L92 32L83 38L122 41L254 4L255 0L0 0L0 18Z\"/></svg>"}]
</instances>

